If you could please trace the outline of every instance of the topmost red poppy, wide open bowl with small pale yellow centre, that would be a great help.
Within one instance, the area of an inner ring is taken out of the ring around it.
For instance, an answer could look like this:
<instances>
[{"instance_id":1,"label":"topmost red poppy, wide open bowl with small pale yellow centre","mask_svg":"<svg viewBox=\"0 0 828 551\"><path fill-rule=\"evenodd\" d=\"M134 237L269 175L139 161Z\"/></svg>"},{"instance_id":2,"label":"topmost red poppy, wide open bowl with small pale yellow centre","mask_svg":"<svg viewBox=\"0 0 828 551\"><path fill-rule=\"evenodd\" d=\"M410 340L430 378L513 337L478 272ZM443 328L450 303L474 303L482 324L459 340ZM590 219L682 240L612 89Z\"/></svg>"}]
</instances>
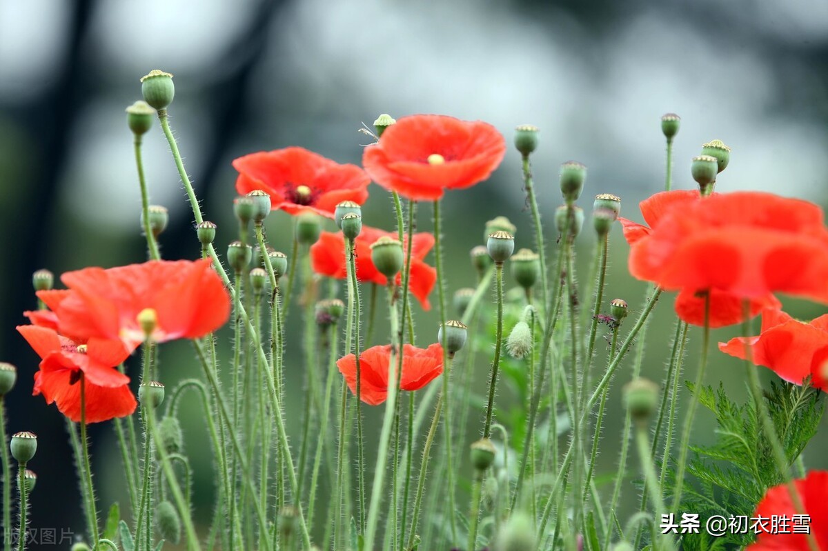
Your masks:
<instances>
[{"instance_id":1,"label":"topmost red poppy, wide open bowl with small pale yellow centre","mask_svg":"<svg viewBox=\"0 0 828 551\"><path fill-rule=\"evenodd\" d=\"M368 175L407 199L440 199L445 189L489 178L506 154L506 141L488 122L442 115L402 117L363 152Z\"/></svg>"}]
</instances>

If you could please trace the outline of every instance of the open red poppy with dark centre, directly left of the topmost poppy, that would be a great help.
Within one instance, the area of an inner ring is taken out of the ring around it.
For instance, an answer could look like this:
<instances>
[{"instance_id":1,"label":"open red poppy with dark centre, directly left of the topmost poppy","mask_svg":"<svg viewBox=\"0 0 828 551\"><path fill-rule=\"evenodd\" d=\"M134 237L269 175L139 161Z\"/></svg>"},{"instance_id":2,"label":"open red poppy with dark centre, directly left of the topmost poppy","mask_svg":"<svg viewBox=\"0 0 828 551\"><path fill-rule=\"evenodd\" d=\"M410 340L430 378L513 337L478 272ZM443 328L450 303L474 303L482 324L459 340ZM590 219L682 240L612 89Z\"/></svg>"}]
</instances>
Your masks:
<instances>
[{"instance_id":1,"label":"open red poppy with dark centre, directly left of the topmost poppy","mask_svg":"<svg viewBox=\"0 0 828 551\"><path fill-rule=\"evenodd\" d=\"M302 147L286 147L238 157L236 189L247 194L261 189L270 195L271 208L289 214L312 211L334 218L342 201L363 204L371 179L357 165L335 161Z\"/></svg>"}]
</instances>

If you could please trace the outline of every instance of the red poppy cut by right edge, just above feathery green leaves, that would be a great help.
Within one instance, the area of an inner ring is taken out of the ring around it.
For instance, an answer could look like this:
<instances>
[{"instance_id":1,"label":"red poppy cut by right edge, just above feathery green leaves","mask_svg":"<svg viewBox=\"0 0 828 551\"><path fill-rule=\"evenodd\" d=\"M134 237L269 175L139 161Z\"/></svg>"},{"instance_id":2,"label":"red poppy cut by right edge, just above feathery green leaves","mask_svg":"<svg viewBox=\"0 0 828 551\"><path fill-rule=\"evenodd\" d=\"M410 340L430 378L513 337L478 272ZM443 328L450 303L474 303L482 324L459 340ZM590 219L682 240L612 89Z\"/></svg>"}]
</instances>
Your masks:
<instances>
[{"instance_id":1,"label":"red poppy cut by right edge, just above feathery green leaves","mask_svg":"<svg viewBox=\"0 0 828 551\"><path fill-rule=\"evenodd\" d=\"M772 369L785 381L802 385L807 376L812 376L813 386L828 389L821 369L828 359L828 314L804 323L782 310L766 309L758 336L719 343L722 352L742 359L748 348L753 363Z\"/></svg>"}]
</instances>

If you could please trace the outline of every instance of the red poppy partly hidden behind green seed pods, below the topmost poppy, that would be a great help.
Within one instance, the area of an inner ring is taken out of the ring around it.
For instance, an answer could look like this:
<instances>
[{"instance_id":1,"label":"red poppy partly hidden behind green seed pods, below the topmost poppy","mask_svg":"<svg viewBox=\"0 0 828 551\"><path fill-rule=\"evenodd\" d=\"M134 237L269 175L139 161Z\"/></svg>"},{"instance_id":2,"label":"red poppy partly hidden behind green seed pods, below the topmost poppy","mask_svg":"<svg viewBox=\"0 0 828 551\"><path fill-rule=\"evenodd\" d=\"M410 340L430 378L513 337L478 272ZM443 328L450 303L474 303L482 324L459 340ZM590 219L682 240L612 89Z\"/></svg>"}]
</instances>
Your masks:
<instances>
[{"instance_id":1,"label":"red poppy partly hidden behind green seed pods, below the topmost poppy","mask_svg":"<svg viewBox=\"0 0 828 551\"><path fill-rule=\"evenodd\" d=\"M359 237L354 241L356 247L357 279L363 282L387 285L388 278L379 273L371 261L371 245L380 237L397 238L397 233L383 232L381 229L363 226ZM403 251L407 250L403 244ZM428 295L434 288L437 280L437 271L425 262L428 252L434 247L434 236L431 233L416 233L412 242L412 267L409 289L412 295L420 301L423 309L430 309ZM341 232L321 232L319 241L310 246L310 259L313 270L320 275L327 275L335 279L344 280L347 276L345 267L345 238ZM397 274L397 285L400 285L402 276Z\"/></svg>"}]
</instances>

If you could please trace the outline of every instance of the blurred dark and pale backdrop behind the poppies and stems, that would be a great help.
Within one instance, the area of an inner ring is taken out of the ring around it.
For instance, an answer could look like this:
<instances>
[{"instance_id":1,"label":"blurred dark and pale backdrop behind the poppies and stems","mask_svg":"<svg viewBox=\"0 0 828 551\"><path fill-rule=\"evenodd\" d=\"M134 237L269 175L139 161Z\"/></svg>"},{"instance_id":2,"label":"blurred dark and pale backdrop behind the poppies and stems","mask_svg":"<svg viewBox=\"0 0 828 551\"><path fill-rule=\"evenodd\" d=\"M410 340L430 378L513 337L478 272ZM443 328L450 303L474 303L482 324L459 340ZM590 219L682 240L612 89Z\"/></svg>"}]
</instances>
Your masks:
<instances>
[{"instance_id":1,"label":"blurred dark and pale backdrop behind the poppies and stems","mask_svg":"<svg viewBox=\"0 0 828 551\"><path fill-rule=\"evenodd\" d=\"M38 474L33 527L81 532L83 521L62 416L31 396L36 355L14 326L23 323L23 310L35 307L30 277L36 269L59 274L144 260L123 109L140 98L138 79L156 68L176 75L171 124L206 218L219 225L219 251L235 238L222 231L235 227L233 158L298 145L359 164L368 137L357 130L378 113L483 119L510 144L517 124L541 127L533 167L547 221L560 203L557 166L569 159L589 167L582 200L588 211L593 195L609 192L623 198L623 215L640 221L638 201L663 186L659 117L666 112L682 117L675 187L692 187L691 156L703 142L719 138L733 147L721 191L763 189L826 200L828 5L821 0L0 0L0 360L15 363L20 375L7 398L8 429L40 436L31 463ZM145 144L152 203L171 213L161 236L163 254L195 257L192 215L158 127ZM375 185L370 190L363 219L392 229L389 195ZM481 244L489 218L512 219L517 247L534 243L519 156L511 148L488 182L447 194L444 213L449 296L474 285L468 251ZM274 247L289 251L289 222L282 213L268 219ZM430 208L424 206L419 229L430 228ZM546 236L554 243L551 229ZM594 244L588 222L578 240L583 268ZM634 315L645 285L626 271L628 247L619 228L610 252L608 298L626 299ZM644 374L657 381L672 336L672 295L661 303L644 365ZM816 304L785 304L802 318L825 312ZM436 310L423 313L415 306L415 315L417 343L433 342ZM299 335L298 315L292 321L288 343ZM715 331L714 341L737 331ZM690 374L698 333L691 330ZM190 352L184 343L162 348L168 388L197 373ZM287 353L288 365L301 365L298 346ZM482 392L489 367L479 358L475 390ZM724 381L734 395L744 393L743 372L733 358L713 352L708 373L708 383ZM289 385L301 386L300 369L288 377ZM628 377L622 370L616 382ZM619 387L610 412L620 407ZM514 395L504 388L500 400L506 404ZM195 403L191 407L184 424L198 477L195 514L209 522L209 443L202 414ZM286 408L289 416L298 415L300 401ZM368 434L378 431L381 414L368 410ZM599 456L604 472L614 469L621 423L620 415L609 415ZM298 423L289 425L296 444ZM697 440L712 438L712 429L702 411ZM469 438L474 430L469 428ZM111 427L96 425L91 434L102 509L114 500L126 503ZM828 437L818 435L806 450L808 467L828 467L826 447ZM632 506L629 487L625 496Z\"/></svg>"}]
</instances>

